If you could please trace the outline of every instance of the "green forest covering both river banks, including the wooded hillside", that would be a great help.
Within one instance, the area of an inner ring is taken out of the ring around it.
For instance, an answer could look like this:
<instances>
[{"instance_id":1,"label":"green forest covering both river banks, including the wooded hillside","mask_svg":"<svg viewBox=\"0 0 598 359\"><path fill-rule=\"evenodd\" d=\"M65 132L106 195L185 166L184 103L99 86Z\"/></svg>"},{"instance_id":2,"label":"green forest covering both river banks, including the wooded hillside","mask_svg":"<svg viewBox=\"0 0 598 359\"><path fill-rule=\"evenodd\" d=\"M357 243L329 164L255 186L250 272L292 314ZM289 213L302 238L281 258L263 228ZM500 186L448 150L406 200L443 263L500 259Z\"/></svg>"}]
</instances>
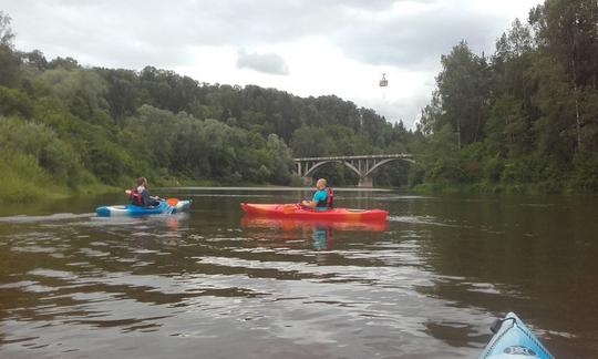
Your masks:
<instances>
[{"instance_id":1,"label":"green forest covering both river banks, including the wooded hillside","mask_svg":"<svg viewBox=\"0 0 598 359\"><path fill-rule=\"evenodd\" d=\"M546 0L497 38L441 57L413 130L334 95L209 84L48 60L0 12L0 202L152 185L298 184L293 157L412 153L377 186L598 191L598 2ZM393 119L394 120L394 119ZM354 185L342 165L317 174Z\"/></svg>"}]
</instances>

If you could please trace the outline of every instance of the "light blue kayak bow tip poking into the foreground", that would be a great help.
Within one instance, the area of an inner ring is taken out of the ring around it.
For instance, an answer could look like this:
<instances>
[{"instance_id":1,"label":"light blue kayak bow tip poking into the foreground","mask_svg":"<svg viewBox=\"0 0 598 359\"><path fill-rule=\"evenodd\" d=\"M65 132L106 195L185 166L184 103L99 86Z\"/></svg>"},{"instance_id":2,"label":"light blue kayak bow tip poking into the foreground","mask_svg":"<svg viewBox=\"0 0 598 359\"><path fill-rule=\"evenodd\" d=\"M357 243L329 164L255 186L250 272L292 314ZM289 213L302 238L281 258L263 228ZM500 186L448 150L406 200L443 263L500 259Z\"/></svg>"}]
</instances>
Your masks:
<instances>
[{"instance_id":1,"label":"light blue kayak bow tip poking into the foreground","mask_svg":"<svg viewBox=\"0 0 598 359\"><path fill-rule=\"evenodd\" d=\"M514 312L509 312L504 319L497 320L493 325L492 331L494 337L492 337L480 359L554 359L538 338Z\"/></svg>"}]
</instances>

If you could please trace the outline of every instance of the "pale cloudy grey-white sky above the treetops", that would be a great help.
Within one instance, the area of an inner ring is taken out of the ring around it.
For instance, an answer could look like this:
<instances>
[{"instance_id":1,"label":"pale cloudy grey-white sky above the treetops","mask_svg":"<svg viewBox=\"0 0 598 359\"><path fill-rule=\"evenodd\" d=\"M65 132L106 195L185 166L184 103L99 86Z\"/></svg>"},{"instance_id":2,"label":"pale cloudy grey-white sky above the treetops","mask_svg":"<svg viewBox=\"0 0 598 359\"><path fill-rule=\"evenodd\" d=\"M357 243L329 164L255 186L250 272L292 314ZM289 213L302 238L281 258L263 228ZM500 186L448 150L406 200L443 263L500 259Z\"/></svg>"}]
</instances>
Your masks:
<instances>
[{"instance_id":1,"label":"pale cloudy grey-white sky above the treetops","mask_svg":"<svg viewBox=\"0 0 598 359\"><path fill-rule=\"evenodd\" d=\"M412 127L440 58L481 53L542 0L0 0L19 50L200 82L336 94ZM378 81L386 73L389 86Z\"/></svg>"}]
</instances>

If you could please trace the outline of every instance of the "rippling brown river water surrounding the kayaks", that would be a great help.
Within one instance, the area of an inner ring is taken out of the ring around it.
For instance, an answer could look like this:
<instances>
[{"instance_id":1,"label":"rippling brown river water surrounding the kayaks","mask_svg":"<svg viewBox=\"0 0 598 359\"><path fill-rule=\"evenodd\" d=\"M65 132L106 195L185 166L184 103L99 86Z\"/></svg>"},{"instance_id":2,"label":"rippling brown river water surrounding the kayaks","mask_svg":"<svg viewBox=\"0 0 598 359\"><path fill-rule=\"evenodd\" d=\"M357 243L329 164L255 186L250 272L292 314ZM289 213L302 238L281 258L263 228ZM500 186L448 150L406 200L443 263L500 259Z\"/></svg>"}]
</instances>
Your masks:
<instances>
[{"instance_id":1,"label":"rippling brown river water surrounding the kayaks","mask_svg":"<svg viewBox=\"0 0 598 359\"><path fill-rule=\"evenodd\" d=\"M476 358L508 311L598 358L598 198L337 191L390 212L368 226L243 217L300 189L155 193L192 212L1 209L1 358Z\"/></svg>"}]
</instances>

